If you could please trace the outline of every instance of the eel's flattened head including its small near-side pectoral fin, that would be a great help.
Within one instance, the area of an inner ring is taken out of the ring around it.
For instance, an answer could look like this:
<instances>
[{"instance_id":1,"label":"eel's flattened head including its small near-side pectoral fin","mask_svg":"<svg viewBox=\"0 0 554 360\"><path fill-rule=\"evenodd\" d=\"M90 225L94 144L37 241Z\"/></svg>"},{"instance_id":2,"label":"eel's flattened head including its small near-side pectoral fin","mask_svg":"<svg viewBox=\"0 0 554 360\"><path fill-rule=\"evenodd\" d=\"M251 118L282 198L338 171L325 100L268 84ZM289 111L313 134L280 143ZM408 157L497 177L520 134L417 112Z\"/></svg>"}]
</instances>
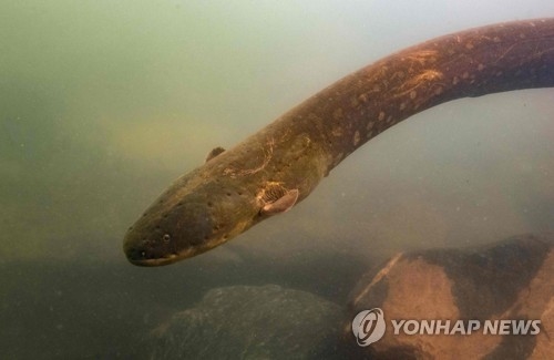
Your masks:
<instances>
[{"instance_id":1,"label":"eel's flattened head including its small near-side pectoral fin","mask_svg":"<svg viewBox=\"0 0 554 360\"><path fill-rule=\"evenodd\" d=\"M297 198L297 189L275 184L248 187L228 177L198 184L185 176L129 228L123 248L134 265L168 265L207 251L259 220L290 209Z\"/></svg>"}]
</instances>

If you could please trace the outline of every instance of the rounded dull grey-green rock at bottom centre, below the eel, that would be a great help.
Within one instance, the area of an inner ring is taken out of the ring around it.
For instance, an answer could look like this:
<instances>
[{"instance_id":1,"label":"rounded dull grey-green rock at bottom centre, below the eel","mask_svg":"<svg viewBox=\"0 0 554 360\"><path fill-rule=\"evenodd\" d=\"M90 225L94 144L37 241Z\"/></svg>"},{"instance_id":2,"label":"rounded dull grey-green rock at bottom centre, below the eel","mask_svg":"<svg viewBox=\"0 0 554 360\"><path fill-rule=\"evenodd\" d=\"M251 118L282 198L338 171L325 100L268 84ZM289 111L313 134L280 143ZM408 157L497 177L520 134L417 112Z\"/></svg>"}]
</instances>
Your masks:
<instances>
[{"instance_id":1,"label":"rounded dull grey-green rock at bottom centre, below the eel","mask_svg":"<svg viewBox=\"0 0 554 360\"><path fill-rule=\"evenodd\" d=\"M337 354L341 308L275 285L209 290L154 331L152 359L318 359Z\"/></svg>"}]
</instances>

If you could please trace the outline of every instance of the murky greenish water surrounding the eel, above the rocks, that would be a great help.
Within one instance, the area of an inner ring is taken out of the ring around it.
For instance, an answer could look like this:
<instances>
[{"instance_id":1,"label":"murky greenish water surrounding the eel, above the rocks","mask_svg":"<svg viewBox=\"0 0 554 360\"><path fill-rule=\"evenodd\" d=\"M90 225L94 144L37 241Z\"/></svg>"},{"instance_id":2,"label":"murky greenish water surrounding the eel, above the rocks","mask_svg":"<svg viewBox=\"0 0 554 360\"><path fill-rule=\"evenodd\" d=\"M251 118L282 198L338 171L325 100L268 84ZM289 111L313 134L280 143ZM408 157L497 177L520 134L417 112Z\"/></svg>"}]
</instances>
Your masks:
<instances>
[{"instance_id":1,"label":"murky greenish water surrounding the eel, above the rocks","mask_svg":"<svg viewBox=\"0 0 554 360\"><path fill-rule=\"evenodd\" d=\"M0 3L0 358L147 359L209 289L337 304L398 250L554 232L554 90L459 100L350 155L294 210L138 268L126 228L216 146L421 41L554 16L520 1Z\"/></svg>"}]
</instances>

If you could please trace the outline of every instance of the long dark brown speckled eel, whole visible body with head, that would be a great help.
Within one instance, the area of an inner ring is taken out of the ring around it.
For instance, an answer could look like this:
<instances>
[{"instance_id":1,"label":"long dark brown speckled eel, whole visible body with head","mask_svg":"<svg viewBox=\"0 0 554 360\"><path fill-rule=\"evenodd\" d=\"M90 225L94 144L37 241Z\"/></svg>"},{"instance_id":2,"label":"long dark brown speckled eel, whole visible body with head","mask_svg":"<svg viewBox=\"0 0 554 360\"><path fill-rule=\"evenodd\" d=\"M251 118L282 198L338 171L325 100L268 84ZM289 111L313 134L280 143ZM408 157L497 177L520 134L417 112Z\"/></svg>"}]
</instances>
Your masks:
<instances>
[{"instance_id":1,"label":"long dark brown speckled eel, whole visible body with head","mask_svg":"<svg viewBox=\"0 0 554 360\"><path fill-rule=\"evenodd\" d=\"M347 75L177 178L129 228L127 259L207 251L305 199L345 157L400 121L460 97L554 86L554 19L437 38Z\"/></svg>"}]
</instances>

